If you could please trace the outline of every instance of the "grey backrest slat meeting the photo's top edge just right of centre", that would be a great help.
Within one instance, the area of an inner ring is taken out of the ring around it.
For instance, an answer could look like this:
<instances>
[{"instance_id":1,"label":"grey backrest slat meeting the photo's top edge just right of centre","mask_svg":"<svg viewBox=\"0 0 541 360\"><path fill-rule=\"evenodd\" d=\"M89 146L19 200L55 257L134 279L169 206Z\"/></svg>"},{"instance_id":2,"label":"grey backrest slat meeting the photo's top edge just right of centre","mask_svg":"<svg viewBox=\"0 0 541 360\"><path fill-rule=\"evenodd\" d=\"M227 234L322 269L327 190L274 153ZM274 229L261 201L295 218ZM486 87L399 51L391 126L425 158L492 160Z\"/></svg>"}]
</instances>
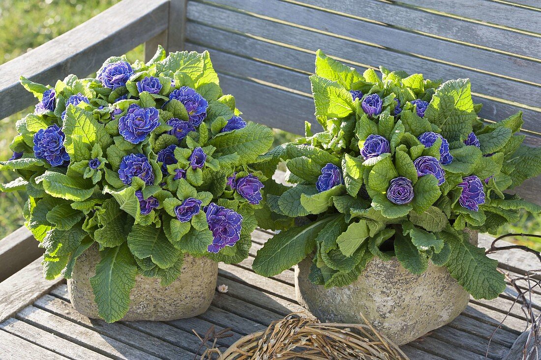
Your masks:
<instances>
[{"instance_id":1,"label":"grey backrest slat meeting the photo's top edge just right of centre","mask_svg":"<svg viewBox=\"0 0 541 360\"><path fill-rule=\"evenodd\" d=\"M537 1L537 0L531 0ZM401 6L396 2L367 0L362 6L351 6L348 1L302 0L303 3L332 9L360 18L389 24L402 29L434 34L456 42L473 44L476 47L497 49L512 55L538 58L539 53L531 48L532 36L508 31L486 24L466 22L462 19L441 16L431 12ZM487 2L484 9L489 9Z\"/></svg>"}]
</instances>

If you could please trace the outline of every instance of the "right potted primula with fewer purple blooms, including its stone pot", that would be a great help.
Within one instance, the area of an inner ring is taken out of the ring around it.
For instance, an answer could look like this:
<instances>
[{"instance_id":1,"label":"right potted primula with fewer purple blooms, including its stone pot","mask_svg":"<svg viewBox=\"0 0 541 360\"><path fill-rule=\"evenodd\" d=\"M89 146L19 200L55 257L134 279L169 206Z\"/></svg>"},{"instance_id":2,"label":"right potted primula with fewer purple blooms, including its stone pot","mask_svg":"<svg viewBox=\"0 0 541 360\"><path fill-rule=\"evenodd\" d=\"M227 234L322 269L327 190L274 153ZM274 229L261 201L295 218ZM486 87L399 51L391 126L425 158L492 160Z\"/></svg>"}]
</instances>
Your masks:
<instances>
[{"instance_id":1,"label":"right potted primula with fewer purple blooms, including its stone pot","mask_svg":"<svg viewBox=\"0 0 541 360\"><path fill-rule=\"evenodd\" d=\"M518 113L487 124L470 81L445 83L380 68L364 74L316 55L310 77L323 128L275 148L267 174L287 160L293 187L267 187L270 211L304 219L269 239L253 267L295 267L298 300L320 320L363 313L404 344L458 316L469 294L505 289L477 233L541 207L507 191L541 171L522 145ZM505 192L505 193L504 193ZM272 227L272 223L266 224Z\"/></svg>"}]
</instances>

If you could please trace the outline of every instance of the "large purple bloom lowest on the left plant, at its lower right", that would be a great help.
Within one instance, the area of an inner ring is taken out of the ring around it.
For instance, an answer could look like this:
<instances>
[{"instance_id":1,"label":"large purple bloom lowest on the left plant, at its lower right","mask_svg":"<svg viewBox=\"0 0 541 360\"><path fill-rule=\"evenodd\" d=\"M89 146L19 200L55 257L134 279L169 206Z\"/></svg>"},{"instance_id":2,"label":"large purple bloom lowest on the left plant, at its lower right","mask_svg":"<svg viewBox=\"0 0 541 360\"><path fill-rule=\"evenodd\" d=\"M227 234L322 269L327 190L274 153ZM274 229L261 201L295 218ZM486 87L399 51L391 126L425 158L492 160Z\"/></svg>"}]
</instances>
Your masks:
<instances>
[{"instance_id":1,"label":"large purple bloom lowest on the left plant, at its lower right","mask_svg":"<svg viewBox=\"0 0 541 360\"><path fill-rule=\"evenodd\" d=\"M203 208L207 214L208 228L212 231L214 240L208 246L208 251L219 252L226 246L234 246L240 240L242 215L223 206L211 202Z\"/></svg>"}]
</instances>

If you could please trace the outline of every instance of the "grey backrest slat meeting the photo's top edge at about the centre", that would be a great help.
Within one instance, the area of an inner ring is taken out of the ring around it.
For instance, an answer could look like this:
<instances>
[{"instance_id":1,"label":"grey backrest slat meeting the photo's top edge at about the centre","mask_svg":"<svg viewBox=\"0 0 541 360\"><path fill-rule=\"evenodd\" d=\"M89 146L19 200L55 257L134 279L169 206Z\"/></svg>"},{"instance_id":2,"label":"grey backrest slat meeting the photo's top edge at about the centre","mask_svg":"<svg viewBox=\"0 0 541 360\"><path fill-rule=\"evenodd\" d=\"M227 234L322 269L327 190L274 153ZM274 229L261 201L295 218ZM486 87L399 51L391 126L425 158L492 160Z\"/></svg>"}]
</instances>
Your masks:
<instances>
[{"instance_id":1,"label":"grey backrest slat meeting the photo's top edge at about the centre","mask_svg":"<svg viewBox=\"0 0 541 360\"><path fill-rule=\"evenodd\" d=\"M447 63L484 70L491 74L501 74L537 84L541 83L541 79L537 76L539 69L541 69L539 62L517 61L517 58L511 55L498 54L487 49L472 48L470 45L448 42L418 32L414 33L384 24L367 22L358 17L348 16L348 14L328 11L321 5L318 6L318 9L313 9L276 0L267 0L264 4L249 0L214 0L214 2L301 25L313 29L313 31L377 44L391 51L418 54ZM340 3L346 4L347 2L334 1L332 4L326 5L330 6L328 9L333 9L340 6ZM348 6L349 12L355 12L362 18L366 18L363 8L364 6ZM529 12L536 15L535 12ZM531 18L525 20L532 23ZM392 21L393 19L388 20ZM541 44L541 39L533 38L532 41ZM464 54L468 54L468 56L464 56Z\"/></svg>"}]
</instances>

